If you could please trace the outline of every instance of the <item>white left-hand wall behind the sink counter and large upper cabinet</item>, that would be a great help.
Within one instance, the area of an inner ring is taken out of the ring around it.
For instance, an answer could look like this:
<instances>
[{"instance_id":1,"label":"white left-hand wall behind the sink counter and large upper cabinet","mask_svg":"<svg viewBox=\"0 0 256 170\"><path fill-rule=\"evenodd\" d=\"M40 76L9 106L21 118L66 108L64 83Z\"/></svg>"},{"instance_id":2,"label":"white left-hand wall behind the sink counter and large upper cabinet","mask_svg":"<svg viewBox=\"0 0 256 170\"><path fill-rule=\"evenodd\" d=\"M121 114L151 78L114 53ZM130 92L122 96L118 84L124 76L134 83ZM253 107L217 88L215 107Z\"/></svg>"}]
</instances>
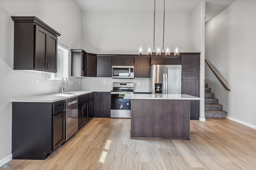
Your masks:
<instances>
[{"instance_id":1,"label":"white left-hand wall behind the sink counter and large upper cabinet","mask_svg":"<svg viewBox=\"0 0 256 170\"><path fill-rule=\"evenodd\" d=\"M0 10L0 165L11 156L12 103L10 99L59 93L60 83L47 84L46 73L13 70L14 22L11 16L36 16L62 34L58 42L68 48L82 47L82 12L72 0L1 0ZM71 55L71 54L70 54ZM35 80L39 86L35 86ZM82 89L81 78L70 77L66 90Z\"/></svg>"}]
</instances>

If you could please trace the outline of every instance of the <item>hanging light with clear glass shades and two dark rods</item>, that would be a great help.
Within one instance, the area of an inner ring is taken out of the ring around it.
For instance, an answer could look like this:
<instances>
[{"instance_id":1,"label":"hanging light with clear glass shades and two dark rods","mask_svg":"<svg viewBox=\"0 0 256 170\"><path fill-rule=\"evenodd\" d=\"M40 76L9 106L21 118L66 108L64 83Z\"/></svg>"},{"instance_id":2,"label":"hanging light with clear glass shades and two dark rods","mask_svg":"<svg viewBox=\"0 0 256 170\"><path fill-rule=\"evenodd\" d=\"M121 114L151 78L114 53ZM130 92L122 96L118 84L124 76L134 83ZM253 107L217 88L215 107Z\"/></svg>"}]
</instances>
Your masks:
<instances>
[{"instance_id":1,"label":"hanging light with clear glass shades and two dark rods","mask_svg":"<svg viewBox=\"0 0 256 170\"><path fill-rule=\"evenodd\" d=\"M152 53L152 49L151 47L148 47L147 49L147 55L163 55L163 56L170 56L170 47L166 47L165 48L165 53L162 52L161 53L161 48L160 47L156 47L156 52L155 52L155 17L156 16L156 0L154 0L154 46L153 46L153 53ZM165 0L164 0L164 21L165 21ZM163 29L163 51L164 51L164 29ZM143 47L140 46L138 49L138 53L139 55L143 55ZM179 55L179 48L175 47L174 48L174 56L178 56Z\"/></svg>"}]
</instances>

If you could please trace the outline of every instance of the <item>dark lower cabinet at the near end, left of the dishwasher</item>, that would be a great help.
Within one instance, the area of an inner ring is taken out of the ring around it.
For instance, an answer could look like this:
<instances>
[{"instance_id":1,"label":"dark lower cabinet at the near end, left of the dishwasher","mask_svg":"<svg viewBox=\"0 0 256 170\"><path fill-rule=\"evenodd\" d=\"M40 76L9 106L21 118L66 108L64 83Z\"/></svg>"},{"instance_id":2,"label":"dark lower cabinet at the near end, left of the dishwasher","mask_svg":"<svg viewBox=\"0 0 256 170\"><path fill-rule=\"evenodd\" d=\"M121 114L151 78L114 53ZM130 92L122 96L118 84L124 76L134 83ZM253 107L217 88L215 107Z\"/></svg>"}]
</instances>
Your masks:
<instances>
[{"instance_id":1,"label":"dark lower cabinet at the near end, left of the dishwasher","mask_svg":"<svg viewBox=\"0 0 256 170\"><path fill-rule=\"evenodd\" d=\"M65 141L65 101L12 103L12 158L46 159Z\"/></svg>"}]
</instances>

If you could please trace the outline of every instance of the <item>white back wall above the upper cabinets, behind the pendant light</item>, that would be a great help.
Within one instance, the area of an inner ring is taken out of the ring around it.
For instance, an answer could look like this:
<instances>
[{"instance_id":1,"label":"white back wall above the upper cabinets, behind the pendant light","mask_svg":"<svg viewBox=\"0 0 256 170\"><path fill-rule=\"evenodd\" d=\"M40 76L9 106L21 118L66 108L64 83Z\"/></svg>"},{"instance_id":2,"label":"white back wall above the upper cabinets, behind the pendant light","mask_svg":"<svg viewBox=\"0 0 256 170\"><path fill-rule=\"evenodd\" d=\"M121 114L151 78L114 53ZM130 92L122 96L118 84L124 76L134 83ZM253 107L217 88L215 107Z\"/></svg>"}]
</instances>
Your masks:
<instances>
[{"instance_id":1,"label":"white back wall above the upper cabinets, behind the pendant light","mask_svg":"<svg viewBox=\"0 0 256 170\"><path fill-rule=\"evenodd\" d=\"M163 45L163 11L156 10L155 48ZM90 53L137 54L154 45L154 12L83 12L83 48ZM166 12L164 48L192 52L191 13Z\"/></svg>"}]
</instances>

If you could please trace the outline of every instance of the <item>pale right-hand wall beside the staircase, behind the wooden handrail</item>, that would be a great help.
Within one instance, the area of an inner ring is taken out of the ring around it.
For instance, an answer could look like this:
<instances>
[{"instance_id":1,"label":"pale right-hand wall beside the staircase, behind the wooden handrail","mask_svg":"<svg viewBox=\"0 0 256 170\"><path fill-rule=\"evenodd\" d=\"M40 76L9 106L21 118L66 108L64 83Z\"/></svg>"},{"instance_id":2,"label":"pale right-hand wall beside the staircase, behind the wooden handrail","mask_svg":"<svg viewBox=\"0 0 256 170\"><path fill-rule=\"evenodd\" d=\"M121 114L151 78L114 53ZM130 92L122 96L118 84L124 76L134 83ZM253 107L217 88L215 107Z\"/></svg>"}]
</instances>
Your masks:
<instances>
[{"instance_id":1,"label":"pale right-hand wall beside the staircase, behind the wooden handrail","mask_svg":"<svg viewBox=\"0 0 256 170\"><path fill-rule=\"evenodd\" d=\"M206 82L228 118L256 128L256 1L237 0L206 24L206 59L230 92L205 69Z\"/></svg>"}]
</instances>

